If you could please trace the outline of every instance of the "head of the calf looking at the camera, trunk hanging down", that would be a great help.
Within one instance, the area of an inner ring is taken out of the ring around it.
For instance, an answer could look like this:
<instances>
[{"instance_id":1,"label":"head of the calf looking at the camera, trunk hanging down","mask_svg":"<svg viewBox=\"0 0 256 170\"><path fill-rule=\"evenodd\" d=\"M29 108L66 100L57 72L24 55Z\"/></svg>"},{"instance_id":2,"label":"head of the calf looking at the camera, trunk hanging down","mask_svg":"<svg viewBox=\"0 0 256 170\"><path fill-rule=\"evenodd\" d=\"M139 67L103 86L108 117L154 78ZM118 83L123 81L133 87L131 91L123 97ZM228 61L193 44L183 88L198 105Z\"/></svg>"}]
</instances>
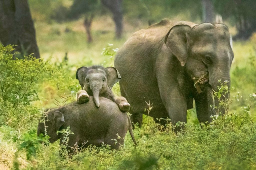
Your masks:
<instances>
[{"instance_id":1,"label":"head of the calf looking at the camera, trunk hanging down","mask_svg":"<svg viewBox=\"0 0 256 170\"><path fill-rule=\"evenodd\" d=\"M89 96L93 95L96 107L100 107L99 95L111 90L121 76L114 67L92 66L90 68L80 67L77 70L76 79L79 80L82 89L86 90Z\"/></svg>"}]
</instances>

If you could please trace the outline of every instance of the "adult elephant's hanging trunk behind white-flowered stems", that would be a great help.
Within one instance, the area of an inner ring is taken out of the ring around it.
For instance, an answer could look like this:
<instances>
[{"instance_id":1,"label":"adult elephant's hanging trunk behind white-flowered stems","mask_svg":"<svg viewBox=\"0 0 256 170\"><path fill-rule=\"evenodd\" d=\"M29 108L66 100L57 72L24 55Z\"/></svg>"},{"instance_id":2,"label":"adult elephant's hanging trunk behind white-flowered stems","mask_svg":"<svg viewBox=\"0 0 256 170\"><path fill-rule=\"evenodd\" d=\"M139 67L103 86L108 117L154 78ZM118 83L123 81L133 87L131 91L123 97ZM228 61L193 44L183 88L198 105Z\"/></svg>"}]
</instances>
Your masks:
<instances>
[{"instance_id":1,"label":"adult elephant's hanging trunk behind white-flowered stems","mask_svg":"<svg viewBox=\"0 0 256 170\"><path fill-rule=\"evenodd\" d=\"M230 90L230 75L229 73L227 73L222 75L216 75L214 77L215 78L213 80L209 79L209 83L212 85L212 89L215 92L219 92L218 86L220 87L221 84L224 86L226 84L228 86L228 89L224 89L222 93L215 95L215 98L214 98L214 105L217 107L217 109L215 110L215 113L225 114L228 112L228 107L224 103L228 102L227 100L229 99L230 93L227 90ZM221 80L221 81L218 82L218 80ZM226 83L226 81L228 82Z\"/></svg>"}]
</instances>

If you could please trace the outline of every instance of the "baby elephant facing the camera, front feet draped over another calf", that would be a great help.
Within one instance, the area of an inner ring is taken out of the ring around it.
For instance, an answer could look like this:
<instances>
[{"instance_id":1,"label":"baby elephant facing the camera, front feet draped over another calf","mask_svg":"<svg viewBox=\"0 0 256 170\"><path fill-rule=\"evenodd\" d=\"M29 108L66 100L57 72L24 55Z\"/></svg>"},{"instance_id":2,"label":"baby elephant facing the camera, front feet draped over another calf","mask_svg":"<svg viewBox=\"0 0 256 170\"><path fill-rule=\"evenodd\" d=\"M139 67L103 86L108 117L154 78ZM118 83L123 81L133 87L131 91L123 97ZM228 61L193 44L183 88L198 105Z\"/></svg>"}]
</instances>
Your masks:
<instances>
[{"instance_id":1,"label":"baby elephant facing the camera, front feet draped over another calf","mask_svg":"<svg viewBox=\"0 0 256 170\"><path fill-rule=\"evenodd\" d=\"M130 110L130 104L124 97L115 98L112 87L117 83L121 76L114 67L92 66L90 68L80 67L76 73L76 79L82 90L77 93L77 101L79 104L89 100L89 96L93 96L94 103L97 108L100 107L99 96L105 97L115 102L122 112Z\"/></svg>"}]
</instances>

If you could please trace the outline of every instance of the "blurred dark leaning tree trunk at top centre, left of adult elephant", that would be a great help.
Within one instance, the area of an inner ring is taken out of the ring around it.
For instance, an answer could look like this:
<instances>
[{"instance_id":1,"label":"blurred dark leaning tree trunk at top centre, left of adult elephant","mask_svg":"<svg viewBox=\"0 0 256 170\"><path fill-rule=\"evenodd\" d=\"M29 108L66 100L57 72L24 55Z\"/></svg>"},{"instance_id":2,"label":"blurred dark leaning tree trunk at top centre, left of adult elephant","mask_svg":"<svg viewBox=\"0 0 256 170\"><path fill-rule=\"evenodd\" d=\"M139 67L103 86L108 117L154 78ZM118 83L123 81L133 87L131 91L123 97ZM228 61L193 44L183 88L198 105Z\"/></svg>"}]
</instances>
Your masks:
<instances>
[{"instance_id":1,"label":"blurred dark leaning tree trunk at top centre, left of adult elephant","mask_svg":"<svg viewBox=\"0 0 256 170\"><path fill-rule=\"evenodd\" d=\"M121 38L123 32L122 0L101 0L101 3L113 13L116 37Z\"/></svg>"}]
</instances>

